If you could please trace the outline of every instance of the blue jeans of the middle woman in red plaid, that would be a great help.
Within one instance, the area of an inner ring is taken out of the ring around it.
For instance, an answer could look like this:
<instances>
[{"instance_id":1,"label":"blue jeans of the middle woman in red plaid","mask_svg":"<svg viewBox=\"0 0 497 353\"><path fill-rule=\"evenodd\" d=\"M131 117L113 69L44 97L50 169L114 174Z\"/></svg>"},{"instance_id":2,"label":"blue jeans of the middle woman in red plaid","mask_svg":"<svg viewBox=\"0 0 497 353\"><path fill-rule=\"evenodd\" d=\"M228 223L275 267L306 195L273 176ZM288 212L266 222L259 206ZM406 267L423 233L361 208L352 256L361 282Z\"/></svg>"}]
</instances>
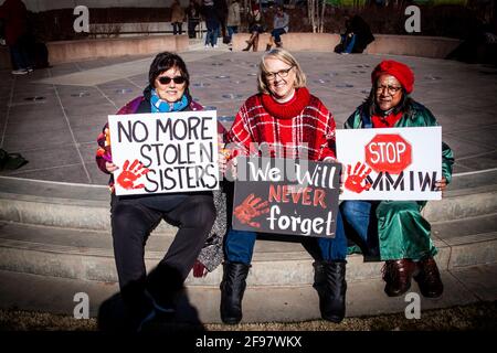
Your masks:
<instances>
[{"instance_id":1,"label":"blue jeans of the middle woman in red plaid","mask_svg":"<svg viewBox=\"0 0 497 353\"><path fill-rule=\"evenodd\" d=\"M229 263L242 263L250 265L254 253L257 233L250 231L230 229L225 235L224 250ZM345 260L347 256L347 238L343 231L343 222L340 212L337 214L337 231L335 238L318 237L317 243L322 260Z\"/></svg>"}]
</instances>

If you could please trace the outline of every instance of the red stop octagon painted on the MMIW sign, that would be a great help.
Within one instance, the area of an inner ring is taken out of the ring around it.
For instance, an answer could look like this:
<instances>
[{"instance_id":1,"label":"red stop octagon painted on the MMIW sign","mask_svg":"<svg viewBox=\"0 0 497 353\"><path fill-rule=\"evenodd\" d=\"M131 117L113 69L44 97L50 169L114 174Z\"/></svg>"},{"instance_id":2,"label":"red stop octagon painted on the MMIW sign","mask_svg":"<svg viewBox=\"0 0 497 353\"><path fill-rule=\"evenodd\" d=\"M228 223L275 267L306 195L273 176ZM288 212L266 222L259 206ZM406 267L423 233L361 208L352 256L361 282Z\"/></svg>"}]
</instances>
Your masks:
<instances>
[{"instance_id":1,"label":"red stop octagon painted on the MMIW sign","mask_svg":"<svg viewBox=\"0 0 497 353\"><path fill-rule=\"evenodd\" d=\"M411 145L400 135L377 135L366 145L366 162L378 173L399 174L412 162Z\"/></svg>"}]
</instances>

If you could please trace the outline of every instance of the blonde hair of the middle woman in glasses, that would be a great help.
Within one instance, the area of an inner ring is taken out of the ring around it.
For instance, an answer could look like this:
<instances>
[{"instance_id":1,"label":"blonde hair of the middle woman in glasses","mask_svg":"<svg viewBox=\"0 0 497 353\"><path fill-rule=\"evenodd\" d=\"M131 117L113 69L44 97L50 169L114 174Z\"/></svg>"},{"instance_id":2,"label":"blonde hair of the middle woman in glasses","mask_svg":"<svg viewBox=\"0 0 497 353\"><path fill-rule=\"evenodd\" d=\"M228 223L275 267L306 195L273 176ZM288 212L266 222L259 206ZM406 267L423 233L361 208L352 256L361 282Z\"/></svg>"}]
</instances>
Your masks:
<instances>
[{"instance_id":1,"label":"blonde hair of the middle woman in glasses","mask_svg":"<svg viewBox=\"0 0 497 353\"><path fill-rule=\"evenodd\" d=\"M269 95L269 88L267 87L267 81L266 75L269 73L266 67L266 58L277 58L285 64L288 64L293 67L295 67L295 83L294 87L305 87L306 86L306 75L300 68L300 64L298 64L297 60L289 52L285 51L284 49L276 47L271 50L269 52L265 53L263 57L261 58L261 63L258 64L258 75L257 75L257 89L260 93L264 93Z\"/></svg>"}]
</instances>

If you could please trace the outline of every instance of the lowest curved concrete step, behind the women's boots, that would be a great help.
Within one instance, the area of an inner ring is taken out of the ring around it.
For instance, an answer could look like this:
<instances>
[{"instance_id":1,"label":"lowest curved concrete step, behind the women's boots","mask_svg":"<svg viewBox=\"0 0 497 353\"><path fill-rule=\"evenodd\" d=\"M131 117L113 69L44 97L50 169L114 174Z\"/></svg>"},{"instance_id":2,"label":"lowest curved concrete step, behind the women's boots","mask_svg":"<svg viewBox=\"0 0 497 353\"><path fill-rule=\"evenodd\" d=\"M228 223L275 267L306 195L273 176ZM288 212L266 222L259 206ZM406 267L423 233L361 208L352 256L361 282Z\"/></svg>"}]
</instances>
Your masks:
<instances>
[{"instance_id":1,"label":"lowest curved concrete step, behind the women's boots","mask_svg":"<svg viewBox=\"0 0 497 353\"><path fill-rule=\"evenodd\" d=\"M477 301L497 300L497 265L463 267L441 272L444 293L438 299L421 297L423 311L447 308ZM103 302L117 301L116 284L85 281L67 278L18 274L0 270L0 308L23 309L73 315L74 296L84 292L89 299L89 317L97 317ZM379 278L349 281L347 317L404 312L412 302L404 296L389 298ZM419 293L413 281L410 292ZM214 287L188 286L178 300L178 322L200 320L220 322L220 290ZM243 301L243 322L292 322L319 318L318 297L308 287L247 287Z\"/></svg>"}]
</instances>

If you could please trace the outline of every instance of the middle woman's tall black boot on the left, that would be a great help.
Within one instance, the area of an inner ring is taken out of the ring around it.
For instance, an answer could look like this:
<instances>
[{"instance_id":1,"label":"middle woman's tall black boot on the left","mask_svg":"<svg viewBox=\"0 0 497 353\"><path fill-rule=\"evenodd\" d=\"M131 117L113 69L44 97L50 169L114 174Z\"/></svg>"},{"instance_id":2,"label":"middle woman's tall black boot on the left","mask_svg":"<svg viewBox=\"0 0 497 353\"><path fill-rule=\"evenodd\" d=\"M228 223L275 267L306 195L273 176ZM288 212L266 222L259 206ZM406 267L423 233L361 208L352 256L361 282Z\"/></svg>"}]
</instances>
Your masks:
<instances>
[{"instance_id":1,"label":"middle woman's tall black boot on the left","mask_svg":"<svg viewBox=\"0 0 497 353\"><path fill-rule=\"evenodd\" d=\"M242 299L250 265L225 263L221 282L221 320L228 324L242 321Z\"/></svg>"}]
</instances>

